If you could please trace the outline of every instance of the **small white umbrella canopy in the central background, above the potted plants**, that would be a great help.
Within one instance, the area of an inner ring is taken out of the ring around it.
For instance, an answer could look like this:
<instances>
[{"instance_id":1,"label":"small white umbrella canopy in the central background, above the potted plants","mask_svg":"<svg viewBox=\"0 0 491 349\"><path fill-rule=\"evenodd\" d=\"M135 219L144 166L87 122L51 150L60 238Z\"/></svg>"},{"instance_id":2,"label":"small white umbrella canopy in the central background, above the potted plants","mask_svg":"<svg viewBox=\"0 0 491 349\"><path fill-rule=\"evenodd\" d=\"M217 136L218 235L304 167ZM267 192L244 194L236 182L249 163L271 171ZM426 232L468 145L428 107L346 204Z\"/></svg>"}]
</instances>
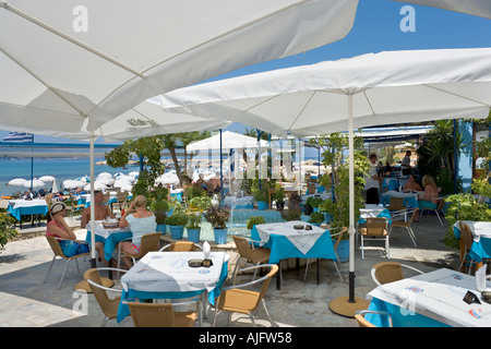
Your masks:
<instances>
[{"instance_id":1,"label":"small white umbrella canopy in the central background, above the potted plants","mask_svg":"<svg viewBox=\"0 0 491 349\"><path fill-rule=\"evenodd\" d=\"M253 148L256 149L259 146L261 147L267 147L268 143L267 141L260 140L258 142L258 139L225 131L221 132L221 134L215 134L208 139L196 141L191 144L189 144L185 147L185 151L188 153L195 153L195 152L207 152L207 151L229 151L229 149L246 149L246 148Z\"/></svg>"}]
</instances>

